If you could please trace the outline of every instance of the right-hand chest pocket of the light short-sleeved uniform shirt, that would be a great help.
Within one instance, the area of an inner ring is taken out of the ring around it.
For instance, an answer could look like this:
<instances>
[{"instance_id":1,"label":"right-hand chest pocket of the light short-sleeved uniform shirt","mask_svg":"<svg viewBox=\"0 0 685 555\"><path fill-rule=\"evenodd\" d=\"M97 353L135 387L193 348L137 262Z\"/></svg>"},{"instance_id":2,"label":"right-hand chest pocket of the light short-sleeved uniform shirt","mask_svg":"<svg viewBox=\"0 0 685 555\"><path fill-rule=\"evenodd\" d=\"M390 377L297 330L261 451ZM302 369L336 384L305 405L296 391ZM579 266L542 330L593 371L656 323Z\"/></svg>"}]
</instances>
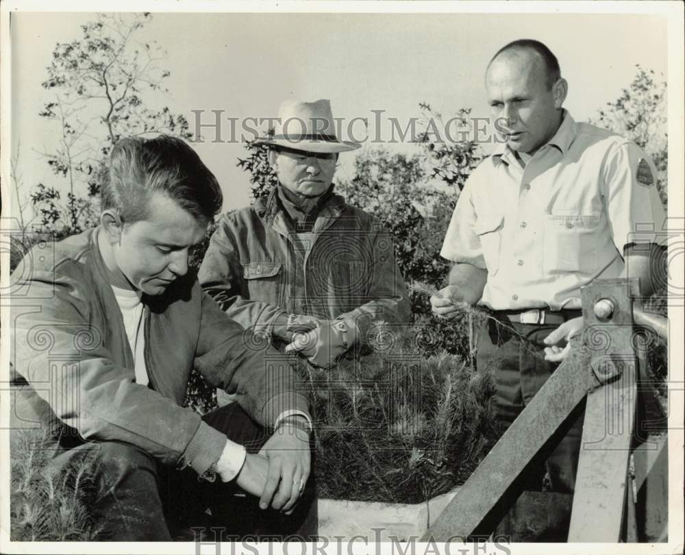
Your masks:
<instances>
[{"instance_id":1,"label":"right-hand chest pocket of the light short-sleeved uniform shirt","mask_svg":"<svg viewBox=\"0 0 685 555\"><path fill-rule=\"evenodd\" d=\"M597 269L599 212L545 214L543 270L547 273Z\"/></svg>"}]
</instances>

